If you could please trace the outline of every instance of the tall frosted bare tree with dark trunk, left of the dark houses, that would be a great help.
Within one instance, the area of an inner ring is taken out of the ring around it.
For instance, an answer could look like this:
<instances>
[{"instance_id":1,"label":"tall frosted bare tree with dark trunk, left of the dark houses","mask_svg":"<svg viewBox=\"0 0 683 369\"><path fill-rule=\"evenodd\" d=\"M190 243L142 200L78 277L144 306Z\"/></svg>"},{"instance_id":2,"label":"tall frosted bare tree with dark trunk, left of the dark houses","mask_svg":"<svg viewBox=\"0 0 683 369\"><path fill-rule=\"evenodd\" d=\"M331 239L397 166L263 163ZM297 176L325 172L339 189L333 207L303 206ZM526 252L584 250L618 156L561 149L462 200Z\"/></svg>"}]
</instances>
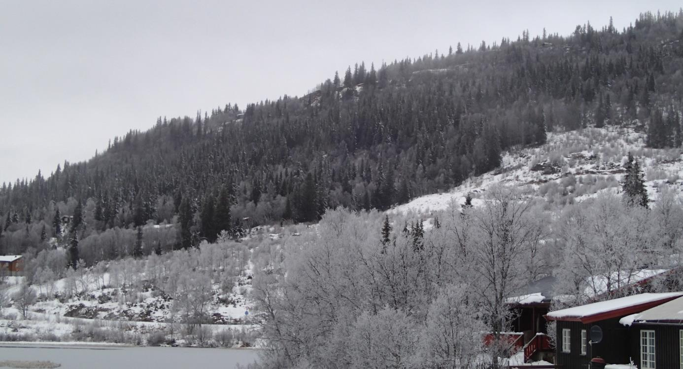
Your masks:
<instances>
[{"instance_id":1,"label":"tall frosted bare tree with dark trunk, left of the dark houses","mask_svg":"<svg viewBox=\"0 0 683 369\"><path fill-rule=\"evenodd\" d=\"M544 234L540 210L508 187L490 189L484 206L454 219L462 249L456 273L466 280L496 338L507 329L507 298L529 282L538 269L539 241ZM502 351L505 344L501 342ZM503 354L503 352L501 352Z\"/></svg>"}]
</instances>

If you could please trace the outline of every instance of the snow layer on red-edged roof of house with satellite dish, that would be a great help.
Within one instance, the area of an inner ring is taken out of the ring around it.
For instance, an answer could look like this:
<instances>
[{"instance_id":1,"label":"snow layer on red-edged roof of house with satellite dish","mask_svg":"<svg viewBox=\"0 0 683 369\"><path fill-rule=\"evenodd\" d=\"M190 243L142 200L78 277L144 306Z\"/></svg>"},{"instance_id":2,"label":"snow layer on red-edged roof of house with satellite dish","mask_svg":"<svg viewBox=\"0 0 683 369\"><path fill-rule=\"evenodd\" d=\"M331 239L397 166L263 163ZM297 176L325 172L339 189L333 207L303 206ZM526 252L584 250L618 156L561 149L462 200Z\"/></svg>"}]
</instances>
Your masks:
<instances>
[{"instance_id":1,"label":"snow layer on red-edged roof of house with satellite dish","mask_svg":"<svg viewBox=\"0 0 683 369\"><path fill-rule=\"evenodd\" d=\"M591 323L597 320L642 312L659 305L659 303L664 303L680 296L683 296L683 292L641 293L640 295L556 310L546 314L546 318L548 320L572 320ZM616 316L610 316L610 314L616 313L618 313Z\"/></svg>"}]
</instances>

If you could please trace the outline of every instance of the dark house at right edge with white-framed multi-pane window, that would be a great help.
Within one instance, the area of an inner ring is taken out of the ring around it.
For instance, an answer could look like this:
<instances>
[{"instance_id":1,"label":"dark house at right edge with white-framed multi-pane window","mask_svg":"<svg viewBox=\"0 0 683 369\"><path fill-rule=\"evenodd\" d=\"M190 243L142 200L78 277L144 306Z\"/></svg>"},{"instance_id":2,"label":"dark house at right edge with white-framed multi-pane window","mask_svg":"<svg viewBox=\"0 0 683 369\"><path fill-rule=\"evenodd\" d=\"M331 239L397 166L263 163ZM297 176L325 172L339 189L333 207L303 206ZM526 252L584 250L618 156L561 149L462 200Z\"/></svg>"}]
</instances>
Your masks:
<instances>
[{"instance_id":1,"label":"dark house at right edge with white-framed multi-pane window","mask_svg":"<svg viewBox=\"0 0 683 369\"><path fill-rule=\"evenodd\" d=\"M683 368L683 298L622 318L630 353L641 369Z\"/></svg>"}]
</instances>

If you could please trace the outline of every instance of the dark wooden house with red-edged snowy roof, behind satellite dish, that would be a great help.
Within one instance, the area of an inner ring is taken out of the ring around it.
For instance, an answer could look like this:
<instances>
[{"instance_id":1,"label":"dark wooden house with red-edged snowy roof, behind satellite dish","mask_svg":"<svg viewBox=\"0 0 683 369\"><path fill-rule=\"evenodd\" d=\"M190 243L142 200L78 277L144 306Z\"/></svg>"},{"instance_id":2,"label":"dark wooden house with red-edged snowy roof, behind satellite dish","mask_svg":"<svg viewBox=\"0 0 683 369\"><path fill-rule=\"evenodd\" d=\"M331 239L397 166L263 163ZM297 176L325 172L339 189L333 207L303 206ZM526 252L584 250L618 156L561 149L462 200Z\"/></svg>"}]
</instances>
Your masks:
<instances>
[{"instance_id":1,"label":"dark wooden house with red-edged snowy roof, behind satellite dish","mask_svg":"<svg viewBox=\"0 0 683 369\"><path fill-rule=\"evenodd\" d=\"M555 364L564 369L587 369L594 357L609 364L627 364L635 354L630 329L619 320L681 296L683 292L642 293L546 314L547 320L557 322ZM600 342L591 342L591 330L600 331Z\"/></svg>"}]
</instances>

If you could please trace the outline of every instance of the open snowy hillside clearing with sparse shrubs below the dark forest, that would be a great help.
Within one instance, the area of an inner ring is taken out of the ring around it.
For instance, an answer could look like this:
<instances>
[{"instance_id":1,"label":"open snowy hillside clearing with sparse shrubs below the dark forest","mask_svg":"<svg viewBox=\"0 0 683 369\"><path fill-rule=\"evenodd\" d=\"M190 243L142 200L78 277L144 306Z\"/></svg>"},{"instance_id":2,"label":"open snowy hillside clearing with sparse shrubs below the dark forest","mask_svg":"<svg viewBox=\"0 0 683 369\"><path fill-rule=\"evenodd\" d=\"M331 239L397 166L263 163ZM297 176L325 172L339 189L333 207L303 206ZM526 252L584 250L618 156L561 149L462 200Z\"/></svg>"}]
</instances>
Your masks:
<instances>
[{"instance_id":1,"label":"open snowy hillside clearing with sparse shrubs below the dark forest","mask_svg":"<svg viewBox=\"0 0 683 369\"><path fill-rule=\"evenodd\" d=\"M594 197L601 191L619 191L624 163L631 152L641 163L650 199L661 184L683 191L683 156L680 149L645 147L645 133L635 128L585 128L581 131L548 133L548 141L533 148L515 148L503 154L502 165L492 172L470 178L447 193L417 197L390 213L429 214L444 210L451 202L481 202L494 184L520 187L548 204L567 204Z\"/></svg>"}]
</instances>

